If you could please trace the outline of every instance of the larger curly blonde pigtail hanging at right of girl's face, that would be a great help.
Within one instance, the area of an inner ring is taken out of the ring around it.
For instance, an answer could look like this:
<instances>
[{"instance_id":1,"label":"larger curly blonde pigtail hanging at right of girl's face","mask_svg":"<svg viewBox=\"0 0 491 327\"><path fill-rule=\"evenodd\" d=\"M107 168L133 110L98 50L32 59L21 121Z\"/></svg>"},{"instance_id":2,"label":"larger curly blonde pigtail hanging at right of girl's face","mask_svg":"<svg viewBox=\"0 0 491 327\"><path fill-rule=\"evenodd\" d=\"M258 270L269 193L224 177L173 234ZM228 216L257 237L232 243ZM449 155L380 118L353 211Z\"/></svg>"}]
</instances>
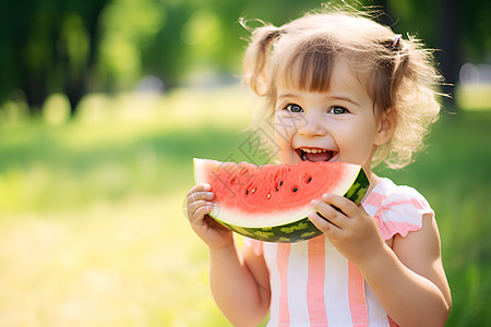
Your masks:
<instances>
[{"instance_id":1,"label":"larger curly blonde pigtail hanging at right of girl's face","mask_svg":"<svg viewBox=\"0 0 491 327\"><path fill-rule=\"evenodd\" d=\"M392 45L393 73L390 78L391 112L395 114L397 128L392 141L380 149L391 168L408 165L415 152L423 147L429 126L438 120L440 104L435 90L442 76L434 68L431 50L408 36Z\"/></svg>"}]
</instances>

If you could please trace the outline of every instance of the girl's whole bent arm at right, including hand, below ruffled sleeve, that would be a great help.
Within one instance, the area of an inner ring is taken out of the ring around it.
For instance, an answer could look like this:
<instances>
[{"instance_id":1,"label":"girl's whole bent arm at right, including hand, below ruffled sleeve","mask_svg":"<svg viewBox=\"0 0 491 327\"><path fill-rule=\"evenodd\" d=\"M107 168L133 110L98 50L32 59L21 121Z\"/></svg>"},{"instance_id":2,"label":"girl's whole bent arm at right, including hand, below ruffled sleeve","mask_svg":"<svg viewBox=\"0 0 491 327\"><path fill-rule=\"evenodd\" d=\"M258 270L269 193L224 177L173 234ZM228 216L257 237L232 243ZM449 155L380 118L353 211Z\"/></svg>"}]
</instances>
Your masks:
<instances>
[{"instance_id":1,"label":"girl's whole bent arm at right, including hand, below ruffled sleeve","mask_svg":"<svg viewBox=\"0 0 491 327\"><path fill-rule=\"evenodd\" d=\"M387 314L400 326L443 326L451 298L440 255L438 228L431 216L421 230L395 237L388 247L362 207L336 195L312 202L330 221L311 220L334 246L360 269ZM332 206L340 208L343 213Z\"/></svg>"}]
</instances>

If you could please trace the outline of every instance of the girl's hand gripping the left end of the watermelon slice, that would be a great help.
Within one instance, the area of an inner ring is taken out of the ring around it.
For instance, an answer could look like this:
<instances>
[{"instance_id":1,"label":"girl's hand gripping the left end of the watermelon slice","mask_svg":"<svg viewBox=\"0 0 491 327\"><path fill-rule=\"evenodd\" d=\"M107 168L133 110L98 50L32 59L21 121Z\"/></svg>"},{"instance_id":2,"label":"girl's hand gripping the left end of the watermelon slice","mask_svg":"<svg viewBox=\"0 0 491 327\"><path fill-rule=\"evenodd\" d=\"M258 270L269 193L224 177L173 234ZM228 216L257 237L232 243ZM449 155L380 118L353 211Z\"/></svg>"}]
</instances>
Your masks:
<instances>
[{"instance_id":1,"label":"girl's hand gripping the left end of the watermelon slice","mask_svg":"<svg viewBox=\"0 0 491 327\"><path fill-rule=\"evenodd\" d=\"M208 216L215 196L209 190L208 184L197 184L188 192L188 219L209 247L220 247L232 241L232 232Z\"/></svg>"}]
</instances>

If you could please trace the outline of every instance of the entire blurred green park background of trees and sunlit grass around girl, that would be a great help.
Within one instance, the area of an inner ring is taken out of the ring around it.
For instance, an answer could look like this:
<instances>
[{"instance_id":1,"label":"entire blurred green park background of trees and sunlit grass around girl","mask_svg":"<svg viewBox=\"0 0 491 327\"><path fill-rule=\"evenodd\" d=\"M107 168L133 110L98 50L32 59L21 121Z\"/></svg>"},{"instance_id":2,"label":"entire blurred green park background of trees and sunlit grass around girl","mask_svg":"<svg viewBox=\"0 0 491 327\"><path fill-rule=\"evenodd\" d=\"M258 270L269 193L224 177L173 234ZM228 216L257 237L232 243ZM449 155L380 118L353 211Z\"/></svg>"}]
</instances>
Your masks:
<instances>
[{"instance_id":1,"label":"entire blurred green park background of trees and sunlit grass around girl","mask_svg":"<svg viewBox=\"0 0 491 327\"><path fill-rule=\"evenodd\" d=\"M240 83L238 19L321 3L0 3L0 326L229 326L182 211L192 158L246 159L263 104ZM436 211L447 325L491 326L491 2L361 3L442 49L453 98L429 146L378 172Z\"/></svg>"}]
</instances>

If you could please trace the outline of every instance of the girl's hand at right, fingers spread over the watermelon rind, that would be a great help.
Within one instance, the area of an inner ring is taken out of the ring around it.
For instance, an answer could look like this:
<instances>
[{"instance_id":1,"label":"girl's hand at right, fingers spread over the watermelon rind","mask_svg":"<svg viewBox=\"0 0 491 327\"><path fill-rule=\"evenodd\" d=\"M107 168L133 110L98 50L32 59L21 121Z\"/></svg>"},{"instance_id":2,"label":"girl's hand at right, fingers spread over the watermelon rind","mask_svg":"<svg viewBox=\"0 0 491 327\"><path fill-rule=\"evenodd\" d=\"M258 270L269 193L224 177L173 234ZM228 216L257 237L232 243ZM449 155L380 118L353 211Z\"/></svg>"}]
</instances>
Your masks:
<instances>
[{"instance_id":1,"label":"girl's hand at right, fingers spread over the watermelon rind","mask_svg":"<svg viewBox=\"0 0 491 327\"><path fill-rule=\"evenodd\" d=\"M359 265L373 257L384 245L374 218L350 199L324 194L322 201L312 201L312 206L327 220L318 214L309 215L309 219L354 264Z\"/></svg>"}]
</instances>

